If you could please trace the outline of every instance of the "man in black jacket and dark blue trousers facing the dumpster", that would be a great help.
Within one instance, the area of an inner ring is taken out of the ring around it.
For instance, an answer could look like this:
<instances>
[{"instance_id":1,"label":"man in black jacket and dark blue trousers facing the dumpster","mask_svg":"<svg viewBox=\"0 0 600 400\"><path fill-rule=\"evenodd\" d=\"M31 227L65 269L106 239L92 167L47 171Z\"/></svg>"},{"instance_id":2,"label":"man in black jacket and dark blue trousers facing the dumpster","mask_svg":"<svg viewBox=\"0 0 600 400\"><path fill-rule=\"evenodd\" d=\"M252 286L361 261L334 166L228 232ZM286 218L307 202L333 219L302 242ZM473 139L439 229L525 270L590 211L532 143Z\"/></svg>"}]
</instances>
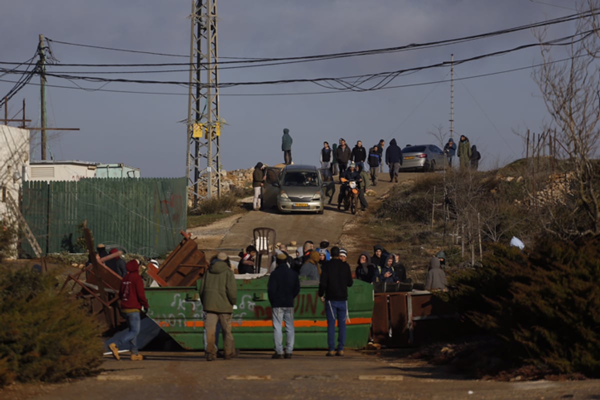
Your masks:
<instances>
[{"instance_id":1,"label":"man in black jacket and dark blue trousers facing the dumpster","mask_svg":"<svg viewBox=\"0 0 600 400\"><path fill-rule=\"evenodd\" d=\"M352 272L346 263L347 252L338 246L331 248L331 260L323 264L319 281L319 297L325 302L327 315L327 344L325 354L343 356L346 344L346 317L348 315L348 288L352 286ZM335 347L335 320L338 323L338 344Z\"/></svg>"}]
</instances>

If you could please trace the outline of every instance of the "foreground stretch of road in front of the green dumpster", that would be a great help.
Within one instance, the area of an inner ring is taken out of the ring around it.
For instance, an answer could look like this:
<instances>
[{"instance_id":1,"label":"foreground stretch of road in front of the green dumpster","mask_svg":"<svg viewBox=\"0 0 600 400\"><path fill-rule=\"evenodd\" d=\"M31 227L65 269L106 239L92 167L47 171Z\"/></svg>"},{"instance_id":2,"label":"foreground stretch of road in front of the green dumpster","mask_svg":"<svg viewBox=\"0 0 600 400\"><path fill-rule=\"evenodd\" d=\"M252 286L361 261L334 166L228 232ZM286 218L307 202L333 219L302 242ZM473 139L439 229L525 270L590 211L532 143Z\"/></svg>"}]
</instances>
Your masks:
<instances>
[{"instance_id":1,"label":"foreground stretch of road in front of the green dumpster","mask_svg":"<svg viewBox=\"0 0 600 400\"><path fill-rule=\"evenodd\" d=\"M347 351L296 351L272 360L253 351L207 362L203 353L146 353L141 362L107 357L98 377L11 387L2 399L598 399L598 381L466 380L418 360Z\"/></svg>"}]
</instances>

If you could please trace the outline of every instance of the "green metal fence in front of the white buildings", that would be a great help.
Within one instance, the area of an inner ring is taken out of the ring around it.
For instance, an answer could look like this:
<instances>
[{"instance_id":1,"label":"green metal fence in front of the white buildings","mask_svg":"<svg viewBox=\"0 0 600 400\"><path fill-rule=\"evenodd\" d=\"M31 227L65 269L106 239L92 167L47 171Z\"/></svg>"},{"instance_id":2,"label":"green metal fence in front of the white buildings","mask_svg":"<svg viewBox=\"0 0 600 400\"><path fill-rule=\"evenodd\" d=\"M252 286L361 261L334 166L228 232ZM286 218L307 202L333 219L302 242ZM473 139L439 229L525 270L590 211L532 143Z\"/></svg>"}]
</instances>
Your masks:
<instances>
[{"instance_id":1,"label":"green metal fence in front of the white buildings","mask_svg":"<svg viewBox=\"0 0 600 400\"><path fill-rule=\"evenodd\" d=\"M23 184L22 213L44 253L82 252L81 225L95 243L154 257L181 241L187 218L187 179L84 178ZM23 241L23 252L32 255Z\"/></svg>"}]
</instances>

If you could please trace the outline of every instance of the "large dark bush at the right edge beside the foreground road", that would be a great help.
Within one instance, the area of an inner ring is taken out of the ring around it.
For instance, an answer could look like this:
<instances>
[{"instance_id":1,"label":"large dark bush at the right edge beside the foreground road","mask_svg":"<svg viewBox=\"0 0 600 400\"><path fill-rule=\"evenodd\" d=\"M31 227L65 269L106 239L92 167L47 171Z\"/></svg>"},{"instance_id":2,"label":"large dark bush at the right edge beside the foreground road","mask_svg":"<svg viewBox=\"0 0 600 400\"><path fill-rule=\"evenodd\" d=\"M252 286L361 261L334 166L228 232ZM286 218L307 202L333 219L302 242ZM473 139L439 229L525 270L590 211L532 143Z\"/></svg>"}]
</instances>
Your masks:
<instances>
[{"instance_id":1,"label":"large dark bush at the right edge beside the foreground road","mask_svg":"<svg viewBox=\"0 0 600 400\"><path fill-rule=\"evenodd\" d=\"M600 377L599 259L598 237L542 238L530 254L496 245L484 268L451 278L448 296L514 365Z\"/></svg>"}]
</instances>

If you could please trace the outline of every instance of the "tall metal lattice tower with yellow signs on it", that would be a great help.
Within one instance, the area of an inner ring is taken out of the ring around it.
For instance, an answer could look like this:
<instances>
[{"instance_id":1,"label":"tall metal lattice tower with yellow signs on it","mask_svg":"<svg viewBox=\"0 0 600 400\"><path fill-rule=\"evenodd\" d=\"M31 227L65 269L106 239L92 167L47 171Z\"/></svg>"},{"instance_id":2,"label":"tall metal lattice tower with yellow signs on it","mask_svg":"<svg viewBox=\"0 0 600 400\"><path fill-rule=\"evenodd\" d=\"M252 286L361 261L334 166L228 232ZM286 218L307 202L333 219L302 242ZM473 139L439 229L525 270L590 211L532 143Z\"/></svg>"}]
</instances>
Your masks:
<instances>
[{"instance_id":1,"label":"tall metal lattice tower with yellow signs on it","mask_svg":"<svg viewBox=\"0 0 600 400\"><path fill-rule=\"evenodd\" d=\"M192 0L190 65L186 172L196 207L221 195L217 0Z\"/></svg>"}]
</instances>

